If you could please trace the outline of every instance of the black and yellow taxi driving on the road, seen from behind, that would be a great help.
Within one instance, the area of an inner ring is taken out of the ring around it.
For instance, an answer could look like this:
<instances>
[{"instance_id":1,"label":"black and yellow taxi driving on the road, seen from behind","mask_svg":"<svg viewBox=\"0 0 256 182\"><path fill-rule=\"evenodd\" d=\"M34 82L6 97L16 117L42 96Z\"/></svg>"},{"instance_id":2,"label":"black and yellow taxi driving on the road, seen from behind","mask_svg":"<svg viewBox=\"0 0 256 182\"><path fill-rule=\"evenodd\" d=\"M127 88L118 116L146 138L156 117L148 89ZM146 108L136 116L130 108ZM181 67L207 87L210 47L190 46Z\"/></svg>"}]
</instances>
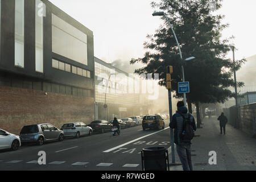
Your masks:
<instances>
[{"instance_id":1,"label":"black and yellow taxi driving on the road, seen from behind","mask_svg":"<svg viewBox=\"0 0 256 182\"><path fill-rule=\"evenodd\" d=\"M146 129L164 129L164 120L160 115L146 115L142 121L143 130Z\"/></svg>"}]
</instances>

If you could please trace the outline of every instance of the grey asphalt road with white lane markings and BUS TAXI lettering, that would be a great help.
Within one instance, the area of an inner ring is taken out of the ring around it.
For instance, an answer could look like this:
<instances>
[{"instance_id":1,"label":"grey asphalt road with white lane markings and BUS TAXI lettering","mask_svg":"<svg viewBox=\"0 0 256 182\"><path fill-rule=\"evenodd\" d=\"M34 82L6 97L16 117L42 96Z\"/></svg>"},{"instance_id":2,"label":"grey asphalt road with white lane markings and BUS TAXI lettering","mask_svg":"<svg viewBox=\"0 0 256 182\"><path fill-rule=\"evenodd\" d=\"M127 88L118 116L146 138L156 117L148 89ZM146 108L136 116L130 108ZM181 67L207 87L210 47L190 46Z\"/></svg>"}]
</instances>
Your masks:
<instances>
[{"instance_id":1,"label":"grey asphalt road with white lane markings and BUS TAXI lettering","mask_svg":"<svg viewBox=\"0 0 256 182\"><path fill-rule=\"evenodd\" d=\"M168 126L168 121L165 121ZM93 134L43 146L22 146L18 151L0 151L0 171L141 171L141 150L170 147L170 129L142 130L142 126L121 130L121 135ZM39 165L39 151L46 152L46 165Z\"/></svg>"}]
</instances>

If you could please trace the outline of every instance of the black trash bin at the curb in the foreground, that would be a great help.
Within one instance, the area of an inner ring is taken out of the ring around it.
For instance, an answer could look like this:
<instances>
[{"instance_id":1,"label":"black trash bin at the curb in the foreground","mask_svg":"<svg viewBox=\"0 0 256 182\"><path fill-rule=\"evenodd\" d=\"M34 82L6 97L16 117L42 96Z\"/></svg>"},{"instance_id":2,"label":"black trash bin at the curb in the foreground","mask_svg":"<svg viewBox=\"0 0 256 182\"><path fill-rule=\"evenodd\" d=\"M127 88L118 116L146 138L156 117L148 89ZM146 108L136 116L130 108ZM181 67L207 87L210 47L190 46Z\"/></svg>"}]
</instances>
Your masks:
<instances>
[{"instance_id":1,"label":"black trash bin at the curb in the foreground","mask_svg":"<svg viewBox=\"0 0 256 182\"><path fill-rule=\"evenodd\" d=\"M143 148L142 171L170 171L168 150L164 147Z\"/></svg>"}]
</instances>

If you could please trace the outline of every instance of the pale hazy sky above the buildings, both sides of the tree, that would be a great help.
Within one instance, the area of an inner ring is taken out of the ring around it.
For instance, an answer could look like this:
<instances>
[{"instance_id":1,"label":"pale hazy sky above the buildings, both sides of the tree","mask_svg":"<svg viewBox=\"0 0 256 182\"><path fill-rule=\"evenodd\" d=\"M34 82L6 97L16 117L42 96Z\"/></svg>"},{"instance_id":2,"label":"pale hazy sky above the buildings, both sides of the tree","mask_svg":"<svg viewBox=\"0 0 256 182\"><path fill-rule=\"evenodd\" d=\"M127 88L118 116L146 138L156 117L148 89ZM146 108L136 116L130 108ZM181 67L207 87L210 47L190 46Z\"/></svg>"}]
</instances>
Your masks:
<instances>
[{"instance_id":1,"label":"pale hazy sky above the buildings, both sides of the tree","mask_svg":"<svg viewBox=\"0 0 256 182\"><path fill-rule=\"evenodd\" d=\"M154 34L163 23L152 16L152 0L50 1L93 31L94 56L107 62L142 57L146 35ZM255 0L224 0L219 11L226 16L224 23L230 24L224 37L236 37L236 59L256 55L255 5Z\"/></svg>"}]
</instances>

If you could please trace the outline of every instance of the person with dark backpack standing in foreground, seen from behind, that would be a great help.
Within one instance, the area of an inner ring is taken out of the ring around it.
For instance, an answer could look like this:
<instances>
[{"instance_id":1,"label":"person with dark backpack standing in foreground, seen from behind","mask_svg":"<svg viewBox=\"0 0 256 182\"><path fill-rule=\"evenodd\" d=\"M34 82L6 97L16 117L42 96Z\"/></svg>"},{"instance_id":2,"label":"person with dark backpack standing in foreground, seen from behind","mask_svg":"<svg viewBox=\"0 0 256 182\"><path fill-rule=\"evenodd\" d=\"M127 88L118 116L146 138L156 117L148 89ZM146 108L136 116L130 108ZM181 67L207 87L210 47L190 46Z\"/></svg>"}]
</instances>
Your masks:
<instances>
[{"instance_id":1,"label":"person with dark backpack standing in foreground, seen from behind","mask_svg":"<svg viewBox=\"0 0 256 182\"><path fill-rule=\"evenodd\" d=\"M193 171L191 160L191 140L184 140L183 135L184 123L189 122L192 127L192 133L196 131L196 122L192 114L188 113L187 107L184 106L183 101L177 103L176 114L172 116L170 127L174 129L174 143L176 144L177 154L179 155L180 162L184 171ZM188 131L189 133L189 131ZM193 134L194 135L194 134ZM193 138L193 137L192 137Z\"/></svg>"}]
</instances>

